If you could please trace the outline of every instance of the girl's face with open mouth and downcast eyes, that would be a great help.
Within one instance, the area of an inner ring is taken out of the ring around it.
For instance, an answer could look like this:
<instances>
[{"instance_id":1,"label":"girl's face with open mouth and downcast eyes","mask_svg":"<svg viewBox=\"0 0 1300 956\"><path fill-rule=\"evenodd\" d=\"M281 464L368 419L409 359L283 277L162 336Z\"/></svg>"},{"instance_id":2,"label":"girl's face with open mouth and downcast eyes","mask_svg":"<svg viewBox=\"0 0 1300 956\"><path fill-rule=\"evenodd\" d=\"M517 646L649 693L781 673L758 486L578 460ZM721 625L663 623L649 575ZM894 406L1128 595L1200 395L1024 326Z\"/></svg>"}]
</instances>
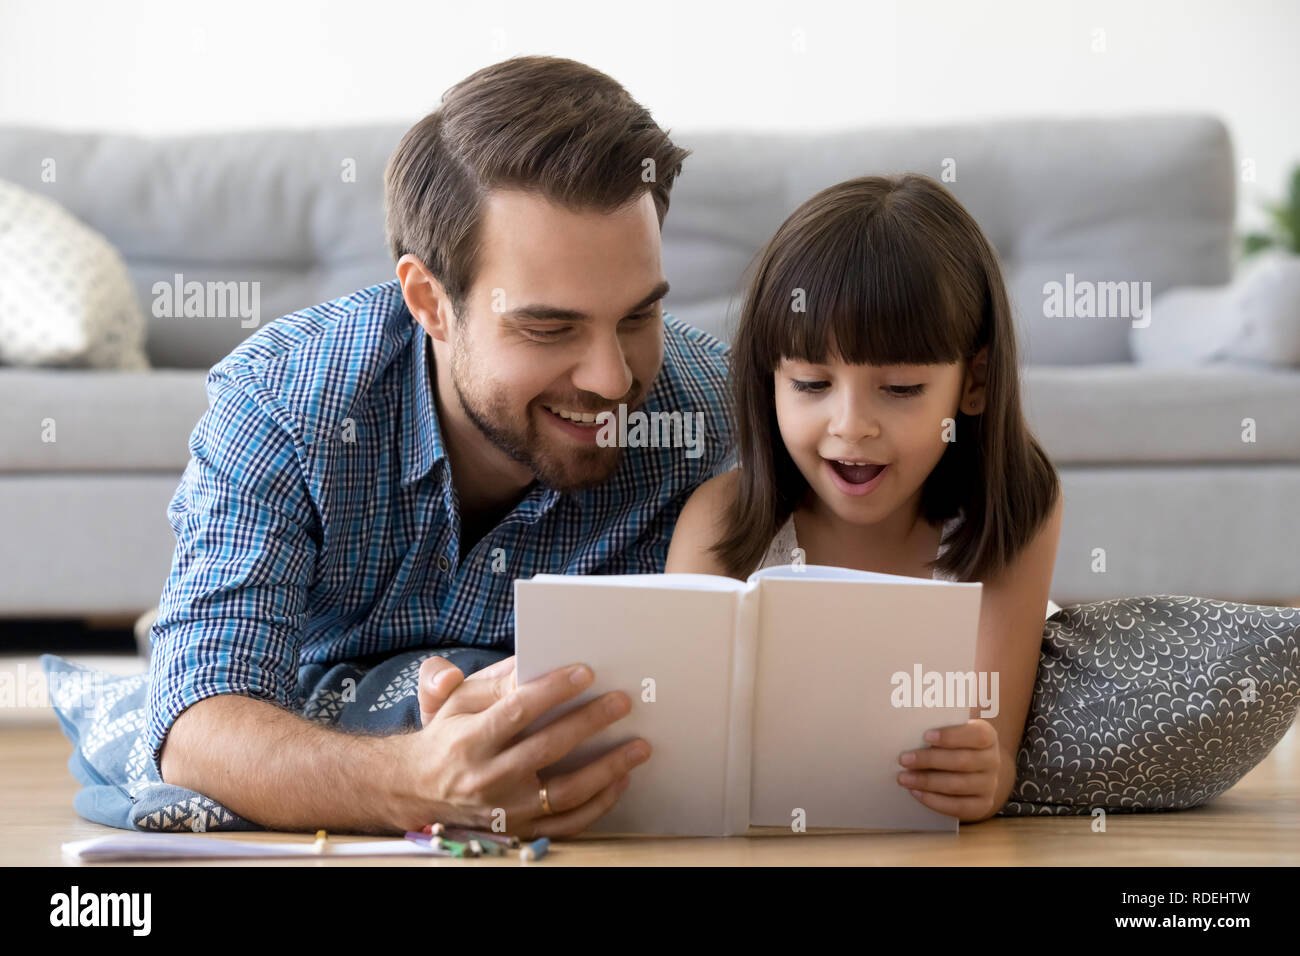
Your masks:
<instances>
[{"instance_id":1,"label":"girl's face with open mouth and downcast eyes","mask_svg":"<svg viewBox=\"0 0 1300 956\"><path fill-rule=\"evenodd\" d=\"M897 520L910 523L922 485L948 449L945 437L971 440L956 434L958 408L983 408L980 392L963 393L963 371L959 362L850 365L783 359L775 372L781 440L810 488L842 520L879 524L905 515Z\"/></svg>"}]
</instances>

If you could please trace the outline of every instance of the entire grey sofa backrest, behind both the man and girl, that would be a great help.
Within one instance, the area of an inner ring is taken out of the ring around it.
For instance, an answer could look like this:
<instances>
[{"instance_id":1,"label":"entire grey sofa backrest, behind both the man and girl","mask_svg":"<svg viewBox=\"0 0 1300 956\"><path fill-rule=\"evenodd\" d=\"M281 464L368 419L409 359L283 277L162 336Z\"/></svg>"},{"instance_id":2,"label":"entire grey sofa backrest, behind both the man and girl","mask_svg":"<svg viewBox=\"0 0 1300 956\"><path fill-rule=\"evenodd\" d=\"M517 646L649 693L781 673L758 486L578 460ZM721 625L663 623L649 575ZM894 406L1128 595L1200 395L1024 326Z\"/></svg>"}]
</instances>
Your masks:
<instances>
[{"instance_id":1,"label":"entire grey sofa backrest, behind both the man and girl","mask_svg":"<svg viewBox=\"0 0 1300 956\"><path fill-rule=\"evenodd\" d=\"M157 282L257 282L260 320L393 276L384 165L403 125L143 138L0 127L0 176L46 189ZM1001 255L1027 364L1130 360L1127 319L1053 319L1043 286L1226 282L1235 168L1213 116L998 120L836 131L675 131L693 150L663 228L664 307L716 332L781 221L855 176L944 179ZM60 156L40 186L42 157ZM124 203L122 196L131 202ZM238 316L150 315L155 365L207 368L246 338ZM718 325L714 325L718 323Z\"/></svg>"}]
</instances>

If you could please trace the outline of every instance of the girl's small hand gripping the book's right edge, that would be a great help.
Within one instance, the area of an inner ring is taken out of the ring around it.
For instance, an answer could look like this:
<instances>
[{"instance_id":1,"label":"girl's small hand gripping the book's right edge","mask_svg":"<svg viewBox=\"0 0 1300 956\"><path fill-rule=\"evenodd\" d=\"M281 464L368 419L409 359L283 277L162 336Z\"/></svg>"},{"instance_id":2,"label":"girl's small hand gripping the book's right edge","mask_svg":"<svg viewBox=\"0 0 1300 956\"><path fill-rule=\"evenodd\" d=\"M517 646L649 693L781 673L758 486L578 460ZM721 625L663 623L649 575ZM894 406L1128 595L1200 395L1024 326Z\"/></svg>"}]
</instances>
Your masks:
<instances>
[{"instance_id":1,"label":"girl's small hand gripping the book's right edge","mask_svg":"<svg viewBox=\"0 0 1300 956\"><path fill-rule=\"evenodd\" d=\"M961 821L984 819L997 808L998 769L1002 760L997 728L988 721L926 731L931 743L898 754L905 767L898 784L932 810Z\"/></svg>"}]
</instances>

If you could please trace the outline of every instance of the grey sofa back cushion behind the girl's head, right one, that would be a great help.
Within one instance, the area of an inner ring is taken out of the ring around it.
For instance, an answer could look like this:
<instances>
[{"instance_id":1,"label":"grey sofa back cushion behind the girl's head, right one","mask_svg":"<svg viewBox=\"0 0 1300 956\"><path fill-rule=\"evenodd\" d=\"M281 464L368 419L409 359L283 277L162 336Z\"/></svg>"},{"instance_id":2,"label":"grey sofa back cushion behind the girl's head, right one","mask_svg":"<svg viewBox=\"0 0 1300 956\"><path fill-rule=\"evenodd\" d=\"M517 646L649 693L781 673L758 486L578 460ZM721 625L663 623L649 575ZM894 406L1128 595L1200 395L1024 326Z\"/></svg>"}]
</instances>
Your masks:
<instances>
[{"instance_id":1,"label":"grey sofa back cushion behind the girl's head, right one","mask_svg":"<svg viewBox=\"0 0 1300 956\"><path fill-rule=\"evenodd\" d=\"M814 193L902 172L941 178L993 243L1024 364L1131 360L1131 317L1046 315L1048 282L1065 284L1070 274L1079 282L1149 282L1158 295L1231 274L1232 146L1210 116L675 138L694 151L673 183L663 228L672 282L666 306L682 317L737 294L762 245ZM954 176L942 178L948 170Z\"/></svg>"}]
</instances>

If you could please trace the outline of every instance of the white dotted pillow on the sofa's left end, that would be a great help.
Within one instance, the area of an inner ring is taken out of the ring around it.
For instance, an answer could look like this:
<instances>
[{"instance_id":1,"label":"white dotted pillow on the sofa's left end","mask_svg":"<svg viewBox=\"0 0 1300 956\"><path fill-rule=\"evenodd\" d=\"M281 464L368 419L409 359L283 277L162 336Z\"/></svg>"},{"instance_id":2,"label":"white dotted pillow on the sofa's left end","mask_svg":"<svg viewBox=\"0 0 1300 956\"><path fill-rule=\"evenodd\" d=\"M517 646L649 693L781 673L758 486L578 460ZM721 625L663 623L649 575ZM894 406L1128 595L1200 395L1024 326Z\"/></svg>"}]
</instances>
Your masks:
<instances>
[{"instance_id":1,"label":"white dotted pillow on the sofa's left end","mask_svg":"<svg viewBox=\"0 0 1300 956\"><path fill-rule=\"evenodd\" d=\"M0 179L0 364L148 368L122 256L58 203Z\"/></svg>"}]
</instances>

